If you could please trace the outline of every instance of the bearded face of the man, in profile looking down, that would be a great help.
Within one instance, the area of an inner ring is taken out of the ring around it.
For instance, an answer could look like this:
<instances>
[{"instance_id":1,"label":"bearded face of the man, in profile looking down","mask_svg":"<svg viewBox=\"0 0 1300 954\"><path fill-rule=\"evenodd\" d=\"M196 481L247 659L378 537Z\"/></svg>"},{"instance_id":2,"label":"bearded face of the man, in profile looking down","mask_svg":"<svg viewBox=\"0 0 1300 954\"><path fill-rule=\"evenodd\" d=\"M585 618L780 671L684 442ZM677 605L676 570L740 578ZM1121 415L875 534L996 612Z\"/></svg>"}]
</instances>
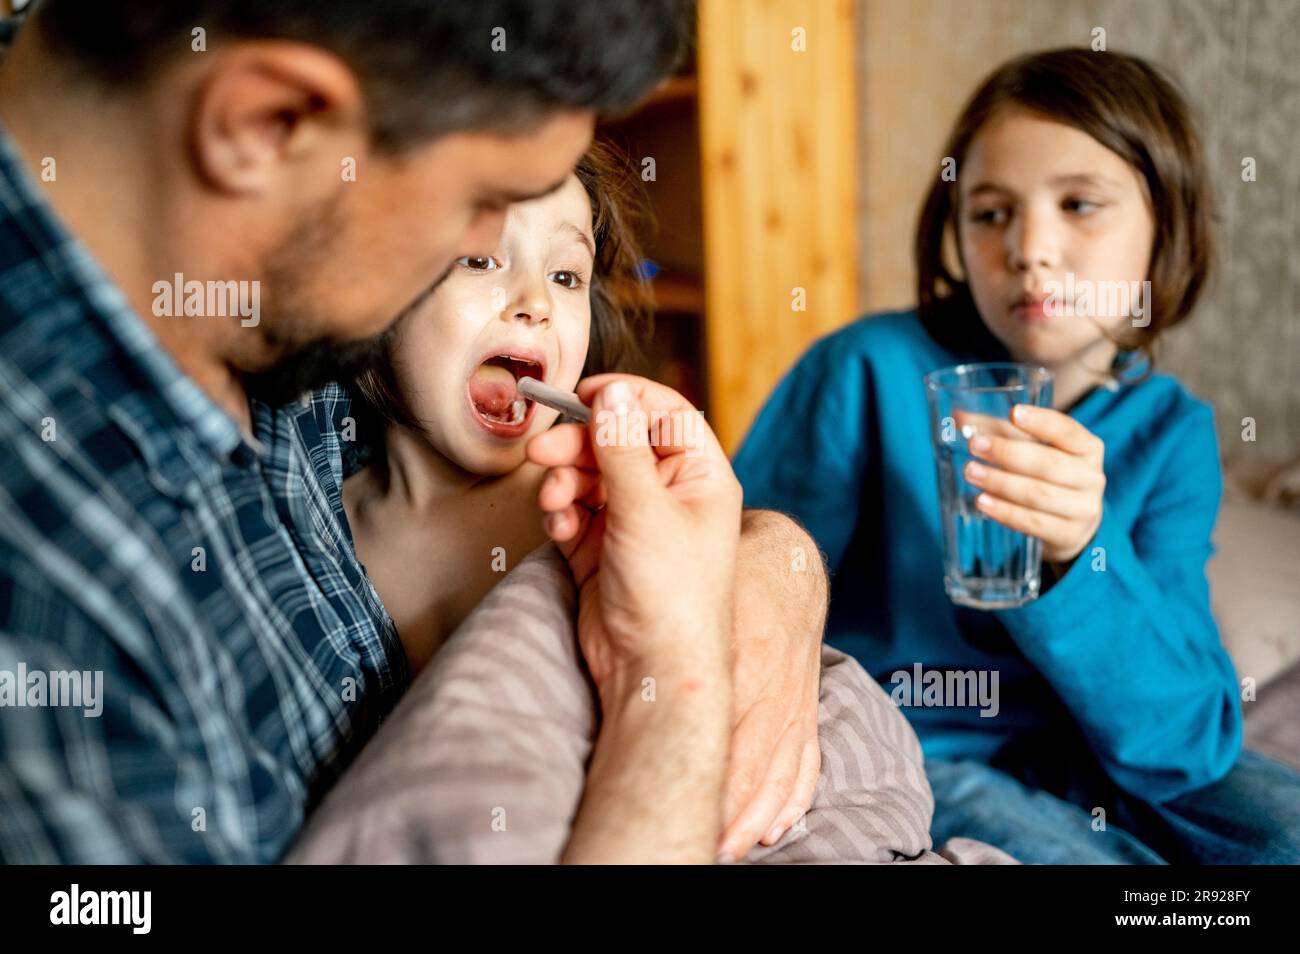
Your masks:
<instances>
[{"instance_id":1,"label":"bearded face of the man, in profile looking down","mask_svg":"<svg viewBox=\"0 0 1300 954\"><path fill-rule=\"evenodd\" d=\"M593 125L590 112L554 113L524 134L455 133L359 160L264 261L250 393L280 402L372 360L456 259L497 246L511 203L566 179Z\"/></svg>"}]
</instances>

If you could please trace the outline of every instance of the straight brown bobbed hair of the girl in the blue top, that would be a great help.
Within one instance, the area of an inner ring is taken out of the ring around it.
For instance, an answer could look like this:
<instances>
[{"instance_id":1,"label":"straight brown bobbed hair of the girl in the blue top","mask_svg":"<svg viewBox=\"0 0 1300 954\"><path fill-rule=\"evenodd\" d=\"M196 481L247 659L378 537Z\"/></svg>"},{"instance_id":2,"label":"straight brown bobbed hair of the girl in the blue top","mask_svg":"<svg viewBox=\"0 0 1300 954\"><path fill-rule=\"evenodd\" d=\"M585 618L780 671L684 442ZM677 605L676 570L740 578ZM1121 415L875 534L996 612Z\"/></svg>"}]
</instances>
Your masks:
<instances>
[{"instance_id":1,"label":"straight brown bobbed hair of the girl in the blue top","mask_svg":"<svg viewBox=\"0 0 1300 954\"><path fill-rule=\"evenodd\" d=\"M1153 359L1156 338L1192 311L1214 257L1209 178L1191 110L1174 83L1124 53L1048 49L1010 60L971 96L944 146L958 175L971 142L1005 109L1026 109L1087 133L1132 165L1147 183L1156 238L1145 328L1115 343ZM970 287L948 268L944 247L959 214L954 182L936 177L916 225L916 311L940 343L980 355L994 344ZM953 235L956 239L956 235ZM961 243L953 242L961 257Z\"/></svg>"}]
</instances>

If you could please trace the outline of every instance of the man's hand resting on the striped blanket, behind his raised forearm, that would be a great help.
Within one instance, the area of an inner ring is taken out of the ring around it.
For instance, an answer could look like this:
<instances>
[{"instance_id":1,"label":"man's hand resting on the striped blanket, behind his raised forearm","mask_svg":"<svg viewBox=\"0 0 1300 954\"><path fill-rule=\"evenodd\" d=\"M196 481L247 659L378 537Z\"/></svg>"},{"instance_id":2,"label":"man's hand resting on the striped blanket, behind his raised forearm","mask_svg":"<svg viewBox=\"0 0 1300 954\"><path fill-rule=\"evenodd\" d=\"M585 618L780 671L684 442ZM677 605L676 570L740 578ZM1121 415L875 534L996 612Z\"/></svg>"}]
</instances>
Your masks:
<instances>
[{"instance_id":1,"label":"man's hand resting on the striped blanket, behind his raised forearm","mask_svg":"<svg viewBox=\"0 0 1300 954\"><path fill-rule=\"evenodd\" d=\"M731 758L720 860L775 844L812 805L827 576L812 538L745 511L736 558Z\"/></svg>"}]
</instances>

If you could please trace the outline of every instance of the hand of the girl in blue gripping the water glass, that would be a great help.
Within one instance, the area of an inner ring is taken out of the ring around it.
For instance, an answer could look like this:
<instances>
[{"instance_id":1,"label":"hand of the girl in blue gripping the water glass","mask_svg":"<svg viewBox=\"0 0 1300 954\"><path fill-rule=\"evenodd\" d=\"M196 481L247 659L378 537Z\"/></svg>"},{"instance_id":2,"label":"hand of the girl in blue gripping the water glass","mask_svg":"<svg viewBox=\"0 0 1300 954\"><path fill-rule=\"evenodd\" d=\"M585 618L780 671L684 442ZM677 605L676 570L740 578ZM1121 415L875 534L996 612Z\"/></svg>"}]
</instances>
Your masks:
<instances>
[{"instance_id":1,"label":"hand of the girl in blue gripping the water glass","mask_svg":"<svg viewBox=\"0 0 1300 954\"><path fill-rule=\"evenodd\" d=\"M1013 424L1044 443L978 434L963 476L984 493L975 504L1004 526L1043 541L1043 559L1067 567L1101 525L1105 445L1069 415L1017 404Z\"/></svg>"}]
</instances>

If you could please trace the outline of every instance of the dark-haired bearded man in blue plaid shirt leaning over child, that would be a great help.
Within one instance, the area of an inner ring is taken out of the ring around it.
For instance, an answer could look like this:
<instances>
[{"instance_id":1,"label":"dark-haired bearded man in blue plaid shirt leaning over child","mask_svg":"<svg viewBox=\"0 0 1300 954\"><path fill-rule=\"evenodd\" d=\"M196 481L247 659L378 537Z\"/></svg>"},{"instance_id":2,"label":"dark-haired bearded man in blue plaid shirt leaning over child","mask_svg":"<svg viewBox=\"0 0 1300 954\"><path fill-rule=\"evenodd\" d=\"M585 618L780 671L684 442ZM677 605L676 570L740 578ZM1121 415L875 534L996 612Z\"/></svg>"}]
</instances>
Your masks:
<instances>
[{"instance_id":1,"label":"dark-haired bearded man in blue plaid shirt leaning over child","mask_svg":"<svg viewBox=\"0 0 1300 954\"><path fill-rule=\"evenodd\" d=\"M0 68L0 673L103 693L92 715L0 691L0 858L281 857L408 673L342 516L347 409L277 408L562 183L595 114L670 69L679 6L31 14ZM614 647L611 699L654 664L680 704L606 714L568 858L736 854L811 799L820 568L784 612L770 594L815 547L775 515L737 542L715 446L654 493L647 448L602 454L608 521L638 529L586 573L685 595L592 600L585 637ZM699 584L733 574L763 625L731 663L732 593ZM624 811L629 785L655 797Z\"/></svg>"}]
</instances>

